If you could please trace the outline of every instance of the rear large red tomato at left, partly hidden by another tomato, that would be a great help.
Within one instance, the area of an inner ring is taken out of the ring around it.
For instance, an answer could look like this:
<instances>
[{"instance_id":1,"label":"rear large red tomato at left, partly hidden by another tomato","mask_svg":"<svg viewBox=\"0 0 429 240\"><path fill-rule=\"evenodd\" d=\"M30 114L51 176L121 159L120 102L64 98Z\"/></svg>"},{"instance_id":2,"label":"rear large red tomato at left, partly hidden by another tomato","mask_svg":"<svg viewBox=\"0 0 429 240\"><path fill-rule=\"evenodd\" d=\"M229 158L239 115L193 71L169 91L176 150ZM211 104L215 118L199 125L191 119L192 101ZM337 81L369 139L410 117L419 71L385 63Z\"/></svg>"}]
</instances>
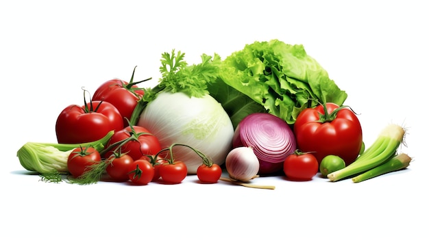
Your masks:
<instances>
[{"instance_id":1,"label":"rear large red tomato at left, partly hidden by another tomato","mask_svg":"<svg viewBox=\"0 0 429 240\"><path fill-rule=\"evenodd\" d=\"M132 112L140 98L143 90L139 90L136 85L128 86L127 81L121 79L111 79L99 86L93 95L93 101L106 101L117 107L123 117L123 126L128 126Z\"/></svg>"}]
</instances>

